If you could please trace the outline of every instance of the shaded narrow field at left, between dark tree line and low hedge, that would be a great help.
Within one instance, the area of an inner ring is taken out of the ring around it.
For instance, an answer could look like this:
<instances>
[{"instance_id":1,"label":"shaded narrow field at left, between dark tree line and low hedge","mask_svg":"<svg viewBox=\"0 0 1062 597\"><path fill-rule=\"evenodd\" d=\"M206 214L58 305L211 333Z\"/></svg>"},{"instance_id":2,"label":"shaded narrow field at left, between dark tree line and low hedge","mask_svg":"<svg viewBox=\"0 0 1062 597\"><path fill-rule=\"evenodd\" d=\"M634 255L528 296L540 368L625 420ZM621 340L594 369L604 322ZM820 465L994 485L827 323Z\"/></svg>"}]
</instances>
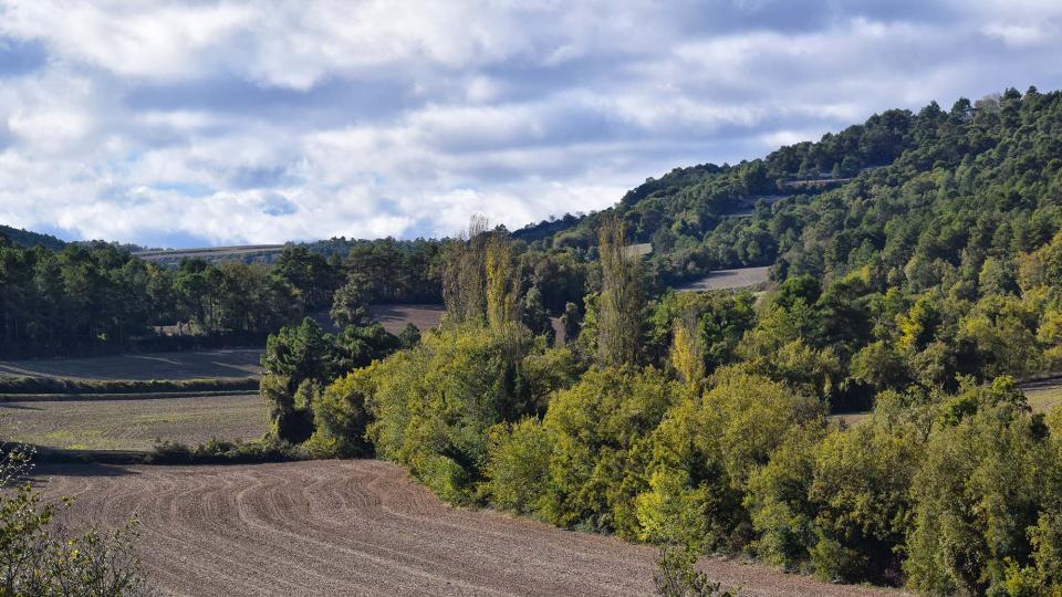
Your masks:
<instances>
[{"instance_id":1,"label":"shaded narrow field at left, between dark tree line and low hedge","mask_svg":"<svg viewBox=\"0 0 1062 597\"><path fill-rule=\"evenodd\" d=\"M74 379L244 378L262 375L261 348L221 348L84 358L0 360L0 375Z\"/></svg>"}]
</instances>

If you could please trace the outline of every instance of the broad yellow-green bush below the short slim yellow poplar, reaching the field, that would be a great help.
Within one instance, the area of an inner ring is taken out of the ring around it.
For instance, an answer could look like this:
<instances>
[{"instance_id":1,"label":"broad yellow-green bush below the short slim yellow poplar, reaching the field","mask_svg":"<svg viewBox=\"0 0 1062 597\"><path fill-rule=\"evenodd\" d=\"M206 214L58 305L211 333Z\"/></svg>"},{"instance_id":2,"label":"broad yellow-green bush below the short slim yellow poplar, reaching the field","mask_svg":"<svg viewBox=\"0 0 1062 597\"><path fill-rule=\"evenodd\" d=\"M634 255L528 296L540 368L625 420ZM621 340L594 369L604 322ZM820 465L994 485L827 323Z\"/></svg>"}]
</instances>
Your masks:
<instances>
[{"instance_id":1,"label":"broad yellow-green bush below the short slim yellow poplar, reaching the field","mask_svg":"<svg viewBox=\"0 0 1062 597\"><path fill-rule=\"evenodd\" d=\"M702 398L687 397L650 438L649 486L636 499L638 537L705 549L752 541L742 505L750 476L823 406L762 377L721 370Z\"/></svg>"}]
</instances>

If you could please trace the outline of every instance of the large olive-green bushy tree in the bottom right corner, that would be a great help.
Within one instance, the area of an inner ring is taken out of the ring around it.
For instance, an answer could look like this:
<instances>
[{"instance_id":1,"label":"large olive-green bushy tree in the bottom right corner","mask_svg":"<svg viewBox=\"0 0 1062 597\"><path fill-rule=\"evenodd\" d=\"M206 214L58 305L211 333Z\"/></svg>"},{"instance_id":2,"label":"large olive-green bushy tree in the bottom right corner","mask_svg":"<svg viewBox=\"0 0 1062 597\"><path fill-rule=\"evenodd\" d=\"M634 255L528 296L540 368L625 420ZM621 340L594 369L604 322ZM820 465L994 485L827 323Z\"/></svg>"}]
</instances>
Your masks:
<instances>
[{"instance_id":1,"label":"large olive-green bushy tree in the bottom right corner","mask_svg":"<svg viewBox=\"0 0 1062 597\"><path fill-rule=\"evenodd\" d=\"M1052 493L1047 436L1038 417L1006 401L934 433L912 483L904 569L913 588L982 594L1030 563L1028 531Z\"/></svg>"}]
</instances>

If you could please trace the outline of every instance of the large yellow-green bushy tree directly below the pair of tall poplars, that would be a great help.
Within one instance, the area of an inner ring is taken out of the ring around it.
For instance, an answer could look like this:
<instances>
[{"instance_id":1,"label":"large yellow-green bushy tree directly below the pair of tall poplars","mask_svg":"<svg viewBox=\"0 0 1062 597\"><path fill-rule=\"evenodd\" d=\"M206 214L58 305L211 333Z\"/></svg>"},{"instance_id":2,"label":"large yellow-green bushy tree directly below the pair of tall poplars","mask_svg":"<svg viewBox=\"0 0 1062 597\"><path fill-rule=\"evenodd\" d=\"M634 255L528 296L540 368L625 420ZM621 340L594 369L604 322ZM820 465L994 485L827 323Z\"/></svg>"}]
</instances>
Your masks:
<instances>
[{"instance_id":1,"label":"large yellow-green bushy tree directly below the pair of tall poplars","mask_svg":"<svg viewBox=\"0 0 1062 597\"><path fill-rule=\"evenodd\" d=\"M523 363L533 347L516 327L449 328L378 363L367 428L377 453L408 465L444 500L475 502L490 429L534 408L531 389L542 383Z\"/></svg>"}]
</instances>

